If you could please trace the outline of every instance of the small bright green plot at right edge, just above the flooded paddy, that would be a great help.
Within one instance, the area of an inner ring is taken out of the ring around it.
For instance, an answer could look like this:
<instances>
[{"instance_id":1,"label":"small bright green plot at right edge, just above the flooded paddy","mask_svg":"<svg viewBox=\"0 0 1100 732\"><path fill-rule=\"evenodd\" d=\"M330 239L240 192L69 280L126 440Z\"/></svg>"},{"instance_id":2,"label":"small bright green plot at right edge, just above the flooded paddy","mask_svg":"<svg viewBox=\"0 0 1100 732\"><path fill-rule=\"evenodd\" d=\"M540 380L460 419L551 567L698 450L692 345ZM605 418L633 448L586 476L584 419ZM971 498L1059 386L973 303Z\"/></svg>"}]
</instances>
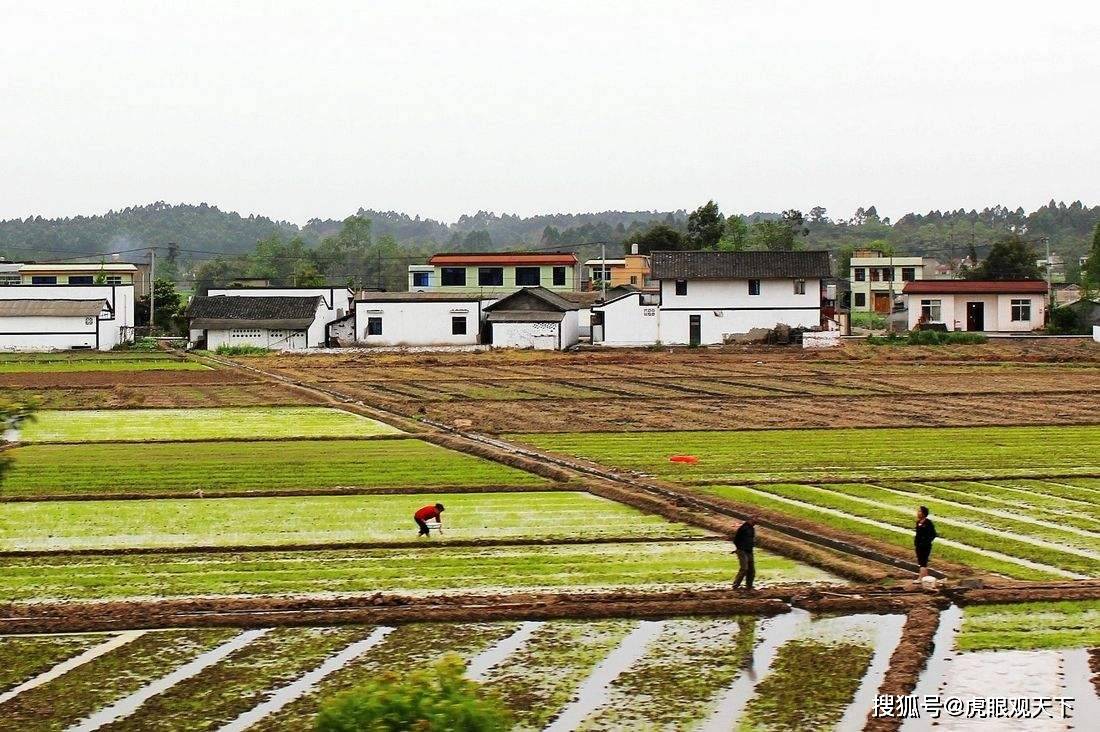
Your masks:
<instances>
[{"instance_id":1,"label":"small bright green plot at right edge, just above the flooded paddy","mask_svg":"<svg viewBox=\"0 0 1100 732\"><path fill-rule=\"evenodd\" d=\"M958 651L1038 651L1100 646L1100 600L970 605Z\"/></svg>"}]
</instances>

